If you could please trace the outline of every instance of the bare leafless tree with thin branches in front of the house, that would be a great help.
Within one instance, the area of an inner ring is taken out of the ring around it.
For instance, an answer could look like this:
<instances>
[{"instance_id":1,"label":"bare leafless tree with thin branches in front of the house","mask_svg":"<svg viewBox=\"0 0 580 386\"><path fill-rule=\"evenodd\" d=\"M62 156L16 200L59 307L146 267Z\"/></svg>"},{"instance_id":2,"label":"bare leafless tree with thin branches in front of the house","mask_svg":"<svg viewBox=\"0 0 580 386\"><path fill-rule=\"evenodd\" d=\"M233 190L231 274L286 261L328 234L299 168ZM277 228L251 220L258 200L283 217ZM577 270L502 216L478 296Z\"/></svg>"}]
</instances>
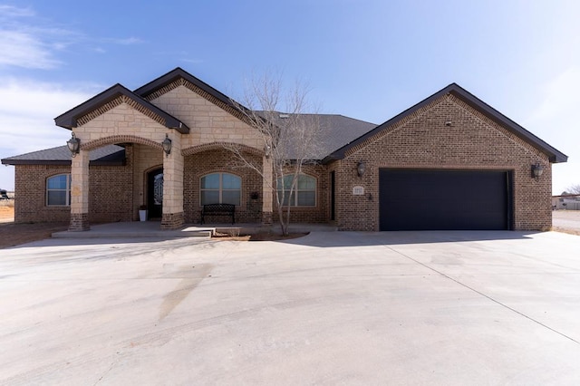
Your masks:
<instances>
[{"instance_id":1,"label":"bare leafless tree with thin branches in front of the house","mask_svg":"<svg viewBox=\"0 0 580 386\"><path fill-rule=\"evenodd\" d=\"M256 171L272 189L280 229L285 236L290 225L290 199L297 194L303 167L315 164L321 157L323 128L316 114L304 113L311 107L306 103L307 93L299 82L285 92L281 76L266 74L248 82L241 103L232 100L261 140L266 158L272 164L271 175L237 144L224 145L241 165Z\"/></svg>"}]
</instances>

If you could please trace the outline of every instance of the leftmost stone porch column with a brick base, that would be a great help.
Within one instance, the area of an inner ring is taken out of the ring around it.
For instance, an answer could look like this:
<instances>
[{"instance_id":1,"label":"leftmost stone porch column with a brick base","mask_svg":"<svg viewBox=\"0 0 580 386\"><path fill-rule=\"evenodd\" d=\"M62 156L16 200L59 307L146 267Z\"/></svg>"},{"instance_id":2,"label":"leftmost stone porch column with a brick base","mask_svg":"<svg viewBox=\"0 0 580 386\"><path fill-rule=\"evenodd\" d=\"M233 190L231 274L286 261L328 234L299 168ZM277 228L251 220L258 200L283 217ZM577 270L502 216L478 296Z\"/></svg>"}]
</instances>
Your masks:
<instances>
[{"instance_id":1,"label":"leftmost stone porch column with a brick base","mask_svg":"<svg viewBox=\"0 0 580 386\"><path fill-rule=\"evenodd\" d=\"M71 223L73 232L89 230L89 151L81 150L71 163Z\"/></svg>"}]
</instances>

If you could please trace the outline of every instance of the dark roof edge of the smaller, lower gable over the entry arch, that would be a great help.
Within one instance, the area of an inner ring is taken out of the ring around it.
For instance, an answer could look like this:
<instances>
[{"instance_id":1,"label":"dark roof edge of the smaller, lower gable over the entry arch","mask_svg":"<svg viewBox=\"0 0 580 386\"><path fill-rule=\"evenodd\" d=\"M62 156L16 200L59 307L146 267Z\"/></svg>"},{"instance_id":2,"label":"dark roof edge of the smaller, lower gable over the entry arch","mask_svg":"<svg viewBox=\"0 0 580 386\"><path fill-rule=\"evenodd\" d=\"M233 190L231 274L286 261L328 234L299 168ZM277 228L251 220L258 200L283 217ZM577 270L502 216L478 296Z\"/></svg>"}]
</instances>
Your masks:
<instances>
[{"instance_id":1,"label":"dark roof edge of the smaller, lower gable over the entry arch","mask_svg":"<svg viewBox=\"0 0 580 386\"><path fill-rule=\"evenodd\" d=\"M82 116L99 109L103 105L119 98L120 96L125 96L131 99L131 101L134 101L146 110L149 110L153 114L161 117L162 121L164 121L165 127L178 130L182 134L189 133L189 127L185 123L179 121L177 118L168 112L161 110L159 107L155 106L149 101L145 101L139 95L131 92L120 83L111 86L109 89L95 95L90 100L81 103L69 111L66 111L62 115L59 115L58 117L54 118L54 122L57 126L72 130L73 128L77 127L77 120Z\"/></svg>"}]
</instances>

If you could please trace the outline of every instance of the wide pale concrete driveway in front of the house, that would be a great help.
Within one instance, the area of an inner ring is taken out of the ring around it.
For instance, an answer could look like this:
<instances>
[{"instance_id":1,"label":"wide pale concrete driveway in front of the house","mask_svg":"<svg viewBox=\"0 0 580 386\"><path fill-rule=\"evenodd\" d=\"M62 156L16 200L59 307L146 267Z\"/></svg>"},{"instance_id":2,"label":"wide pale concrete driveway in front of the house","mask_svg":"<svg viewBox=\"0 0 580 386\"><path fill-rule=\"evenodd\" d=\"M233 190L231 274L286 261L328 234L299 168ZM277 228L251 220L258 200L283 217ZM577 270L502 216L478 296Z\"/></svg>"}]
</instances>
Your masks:
<instances>
[{"instance_id":1,"label":"wide pale concrete driveway in front of the house","mask_svg":"<svg viewBox=\"0 0 580 386\"><path fill-rule=\"evenodd\" d=\"M580 236L137 241L2 251L0 383L580 384Z\"/></svg>"}]
</instances>

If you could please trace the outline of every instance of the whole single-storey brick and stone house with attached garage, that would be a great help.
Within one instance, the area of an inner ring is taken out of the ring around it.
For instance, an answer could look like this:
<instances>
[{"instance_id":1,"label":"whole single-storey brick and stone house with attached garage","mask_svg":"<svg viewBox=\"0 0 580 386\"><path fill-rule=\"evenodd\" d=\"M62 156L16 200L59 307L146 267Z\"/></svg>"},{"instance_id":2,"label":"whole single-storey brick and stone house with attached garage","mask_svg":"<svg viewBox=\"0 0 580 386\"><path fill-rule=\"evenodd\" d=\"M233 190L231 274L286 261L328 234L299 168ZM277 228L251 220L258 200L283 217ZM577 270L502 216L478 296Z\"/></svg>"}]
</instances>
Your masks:
<instances>
[{"instance_id":1,"label":"whole single-storey brick and stone house with attached garage","mask_svg":"<svg viewBox=\"0 0 580 386\"><path fill-rule=\"evenodd\" d=\"M321 114L324 155L304 169L293 222L341 230L551 227L552 163L565 154L452 83L381 125ZM15 221L197 223L210 202L242 223L273 221L272 191L229 167L235 142L271 176L264 143L234 103L182 69L121 84L55 119L81 141L2 159L15 167ZM169 154L162 142L171 140Z\"/></svg>"}]
</instances>

